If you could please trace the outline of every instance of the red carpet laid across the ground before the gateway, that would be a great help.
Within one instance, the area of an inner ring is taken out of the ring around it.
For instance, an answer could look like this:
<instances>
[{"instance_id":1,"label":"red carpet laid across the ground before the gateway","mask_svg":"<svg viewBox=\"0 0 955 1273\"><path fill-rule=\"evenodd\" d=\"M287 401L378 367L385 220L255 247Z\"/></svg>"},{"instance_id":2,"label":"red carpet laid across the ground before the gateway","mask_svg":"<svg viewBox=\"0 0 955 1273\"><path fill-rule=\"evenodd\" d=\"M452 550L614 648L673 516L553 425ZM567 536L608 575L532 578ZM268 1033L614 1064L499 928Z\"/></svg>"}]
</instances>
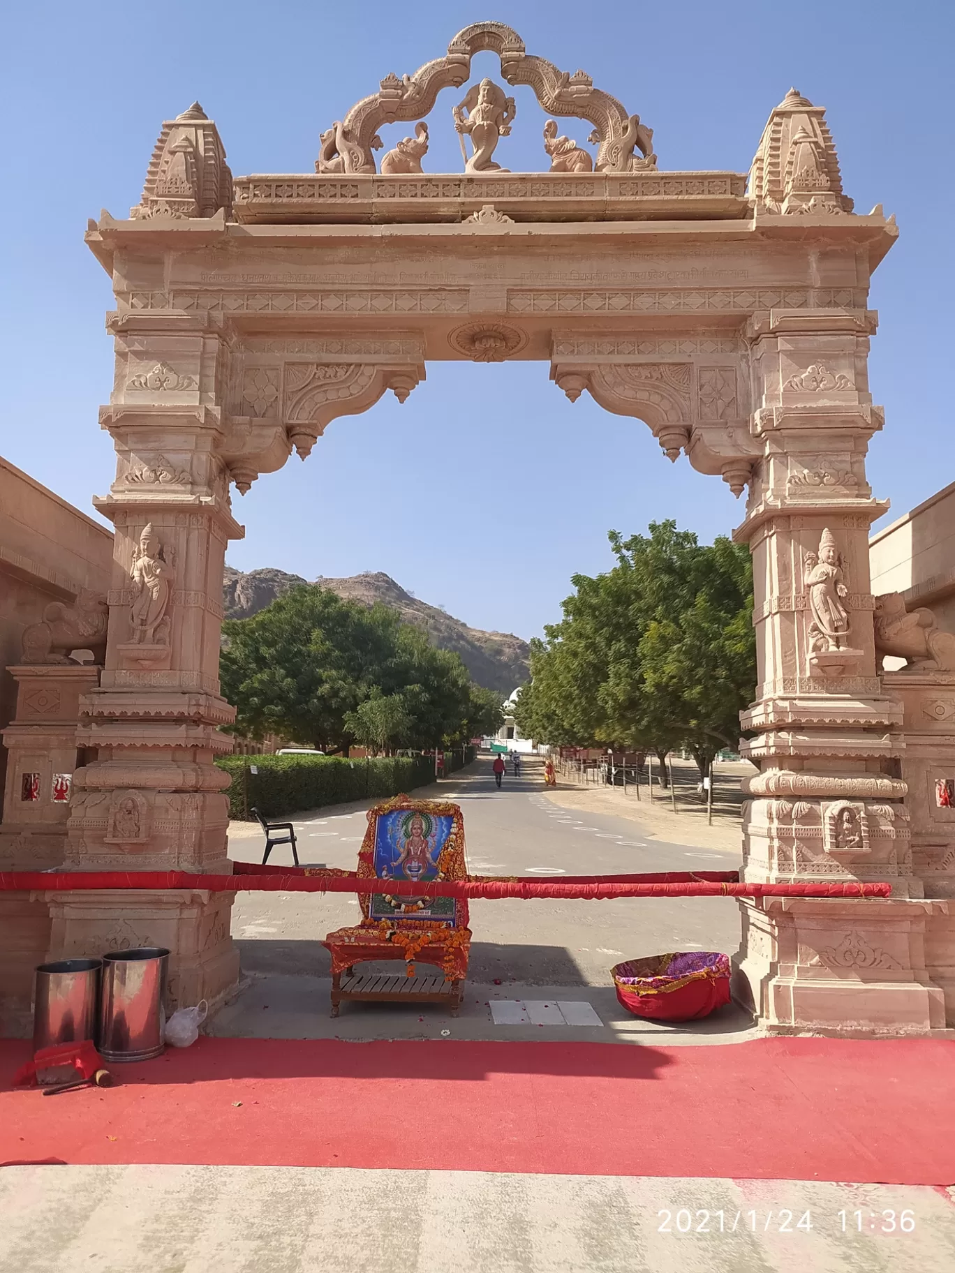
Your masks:
<instances>
[{"instance_id":1,"label":"red carpet laid across the ground before the gateway","mask_svg":"<svg viewBox=\"0 0 955 1273\"><path fill-rule=\"evenodd\" d=\"M27 1055L0 1043L0 1162L955 1183L951 1043L200 1039L55 1097L9 1087Z\"/></svg>"}]
</instances>

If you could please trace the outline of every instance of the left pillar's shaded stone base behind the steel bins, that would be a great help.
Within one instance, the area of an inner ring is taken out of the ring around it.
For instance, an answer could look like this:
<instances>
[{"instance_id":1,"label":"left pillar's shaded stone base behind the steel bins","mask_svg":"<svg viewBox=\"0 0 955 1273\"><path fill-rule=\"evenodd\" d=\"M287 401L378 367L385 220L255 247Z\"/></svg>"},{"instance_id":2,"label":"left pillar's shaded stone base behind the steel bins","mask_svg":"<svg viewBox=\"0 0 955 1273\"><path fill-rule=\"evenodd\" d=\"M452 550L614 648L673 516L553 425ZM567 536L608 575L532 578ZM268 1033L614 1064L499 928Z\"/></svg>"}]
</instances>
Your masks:
<instances>
[{"instance_id":1,"label":"left pillar's shaded stone base behind the steel bins","mask_svg":"<svg viewBox=\"0 0 955 1273\"><path fill-rule=\"evenodd\" d=\"M211 1015L238 981L230 892L90 889L43 896L50 904L48 959L164 946L171 952L167 1015L200 999L209 1001Z\"/></svg>"}]
</instances>

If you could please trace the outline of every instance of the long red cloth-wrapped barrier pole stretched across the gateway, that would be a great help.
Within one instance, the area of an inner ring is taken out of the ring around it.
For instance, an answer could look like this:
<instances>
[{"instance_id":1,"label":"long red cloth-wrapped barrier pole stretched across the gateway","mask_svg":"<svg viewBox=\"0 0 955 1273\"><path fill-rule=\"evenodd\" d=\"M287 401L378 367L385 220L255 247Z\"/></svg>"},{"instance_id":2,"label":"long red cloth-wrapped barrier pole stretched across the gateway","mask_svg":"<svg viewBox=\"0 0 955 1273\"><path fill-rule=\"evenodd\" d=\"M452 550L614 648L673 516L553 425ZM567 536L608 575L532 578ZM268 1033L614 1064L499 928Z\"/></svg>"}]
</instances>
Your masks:
<instances>
[{"instance_id":1,"label":"long red cloth-wrapped barrier pole stretched across the gateway","mask_svg":"<svg viewBox=\"0 0 955 1273\"><path fill-rule=\"evenodd\" d=\"M749 883L733 880L708 880L704 872L661 872L689 875L680 882L607 882L606 876L567 880L359 880L351 875L325 875L309 867L303 875L286 871L266 875L230 876L191 875L185 871L4 871L0 891L62 892L81 889L205 889L209 892L382 892L397 897L550 897L554 900L597 901L609 897L888 897L889 883ZM313 871L313 873L307 873ZM612 877L610 877L612 881ZM587 882L582 882L582 881ZM651 876L651 880L653 877Z\"/></svg>"}]
</instances>

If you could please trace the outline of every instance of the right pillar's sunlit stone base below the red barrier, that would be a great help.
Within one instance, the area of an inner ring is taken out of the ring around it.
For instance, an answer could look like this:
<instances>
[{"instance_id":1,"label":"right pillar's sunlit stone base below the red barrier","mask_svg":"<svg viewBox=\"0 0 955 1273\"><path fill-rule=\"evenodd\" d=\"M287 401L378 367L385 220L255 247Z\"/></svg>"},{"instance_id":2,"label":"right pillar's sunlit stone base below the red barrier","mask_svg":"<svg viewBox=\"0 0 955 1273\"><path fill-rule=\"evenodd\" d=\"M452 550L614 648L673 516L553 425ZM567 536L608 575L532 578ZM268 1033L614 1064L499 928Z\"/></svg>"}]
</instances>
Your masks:
<instances>
[{"instance_id":1,"label":"right pillar's sunlit stone base below the red barrier","mask_svg":"<svg viewBox=\"0 0 955 1273\"><path fill-rule=\"evenodd\" d=\"M926 966L926 927L945 905L741 899L733 997L770 1034L955 1037Z\"/></svg>"}]
</instances>

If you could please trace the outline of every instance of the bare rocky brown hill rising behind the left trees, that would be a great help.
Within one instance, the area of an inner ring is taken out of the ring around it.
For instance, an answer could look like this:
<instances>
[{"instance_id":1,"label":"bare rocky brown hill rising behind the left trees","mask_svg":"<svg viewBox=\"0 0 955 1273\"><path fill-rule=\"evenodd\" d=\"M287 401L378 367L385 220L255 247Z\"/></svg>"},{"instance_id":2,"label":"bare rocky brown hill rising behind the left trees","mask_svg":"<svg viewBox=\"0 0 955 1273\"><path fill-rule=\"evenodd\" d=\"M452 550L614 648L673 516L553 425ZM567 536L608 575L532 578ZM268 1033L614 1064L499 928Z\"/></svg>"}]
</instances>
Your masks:
<instances>
[{"instance_id":1,"label":"bare rocky brown hill rising behind the left trees","mask_svg":"<svg viewBox=\"0 0 955 1273\"><path fill-rule=\"evenodd\" d=\"M227 565L223 579L225 617L251 619L283 592L306 582L301 575L272 568L243 573ZM469 628L460 619L405 592L391 575L381 572L365 572L348 579L326 579L320 575L315 583L363 606L373 606L379 601L397 610L405 622L423 628L439 649L456 651L471 679L485 689L511 694L527 680L527 642L511 633L486 633L480 628Z\"/></svg>"}]
</instances>

